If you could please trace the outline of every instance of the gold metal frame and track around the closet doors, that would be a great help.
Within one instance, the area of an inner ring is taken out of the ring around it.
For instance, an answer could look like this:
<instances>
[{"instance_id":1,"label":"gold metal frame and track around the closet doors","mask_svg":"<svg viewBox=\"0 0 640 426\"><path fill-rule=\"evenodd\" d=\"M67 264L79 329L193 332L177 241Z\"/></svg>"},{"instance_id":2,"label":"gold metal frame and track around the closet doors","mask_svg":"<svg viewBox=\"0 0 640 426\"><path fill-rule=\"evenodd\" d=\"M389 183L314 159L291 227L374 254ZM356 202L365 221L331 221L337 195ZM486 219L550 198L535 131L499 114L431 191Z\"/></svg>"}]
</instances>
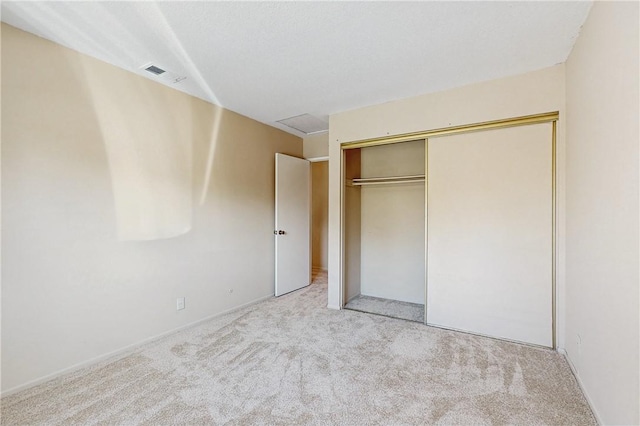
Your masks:
<instances>
[{"instance_id":1,"label":"gold metal frame and track around the closet doors","mask_svg":"<svg viewBox=\"0 0 640 426\"><path fill-rule=\"evenodd\" d=\"M399 135L392 136L384 136L379 138L370 138L370 139L362 139L356 141L342 142L340 144L340 242L341 242L341 264L340 264L340 307L342 308L344 305L344 185L345 185L345 177L344 177L344 151L349 149L357 149L357 148L365 148L369 146L377 146L377 145L389 145L400 142L409 142L414 140L423 139L425 141L425 173L426 165L429 159L429 138L433 137L441 137L441 136L449 136L449 135L458 135L462 133L471 133L471 132L481 132L484 130L496 130L496 129L504 129L508 127L518 127L518 126L527 126L533 124L541 124L541 123L552 123L551 130L551 340L553 342L553 349L557 349L557 333L556 333L556 271L557 271L557 250L556 250L556 234L557 234L557 225L556 225L556 216L557 216L557 191L556 191L556 132L557 132L557 121L559 119L560 113L558 111L546 112L542 114L533 114L533 115L524 115L520 117L512 117L505 118L500 120L492 120L492 121L484 121L480 123L472 123L472 124L463 124L459 126L451 126L451 127L442 127L439 129L433 130L424 130L421 132L413 132L413 133L403 133ZM427 324L427 292L429 283L427 282L427 259L428 259L428 250L429 245L427 243L428 232L429 232L429 224L428 224L428 208L429 206L426 204L428 200L428 182L425 181L425 304L424 304L424 323Z\"/></svg>"}]
</instances>

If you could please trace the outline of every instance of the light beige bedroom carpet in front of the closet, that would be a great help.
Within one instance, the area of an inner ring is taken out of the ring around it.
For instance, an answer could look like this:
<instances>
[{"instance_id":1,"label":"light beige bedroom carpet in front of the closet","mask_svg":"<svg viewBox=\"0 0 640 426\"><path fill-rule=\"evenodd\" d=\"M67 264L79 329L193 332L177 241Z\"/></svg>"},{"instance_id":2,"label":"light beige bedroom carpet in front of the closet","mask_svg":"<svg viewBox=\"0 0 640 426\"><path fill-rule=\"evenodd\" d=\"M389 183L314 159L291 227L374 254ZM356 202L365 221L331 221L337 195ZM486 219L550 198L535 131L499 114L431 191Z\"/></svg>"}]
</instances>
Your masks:
<instances>
[{"instance_id":1,"label":"light beige bedroom carpet in front of the closet","mask_svg":"<svg viewBox=\"0 0 640 426\"><path fill-rule=\"evenodd\" d=\"M326 276L2 399L2 424L591 425L556 352L326 309Z\"/></svg>"}]
</instances>

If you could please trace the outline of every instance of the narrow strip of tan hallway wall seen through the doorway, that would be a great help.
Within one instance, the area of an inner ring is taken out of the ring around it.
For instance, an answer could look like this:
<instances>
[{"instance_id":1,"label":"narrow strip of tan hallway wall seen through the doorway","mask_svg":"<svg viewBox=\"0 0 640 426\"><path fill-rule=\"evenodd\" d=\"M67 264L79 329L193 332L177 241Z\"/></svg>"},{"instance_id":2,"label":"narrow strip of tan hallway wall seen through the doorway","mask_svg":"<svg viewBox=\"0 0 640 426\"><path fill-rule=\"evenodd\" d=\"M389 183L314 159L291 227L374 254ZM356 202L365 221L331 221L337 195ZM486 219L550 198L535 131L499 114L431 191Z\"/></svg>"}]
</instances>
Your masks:
<instances>
[{"instance_id":1,"label":"narrow strip of tan hallway wall seen through the doorway","mask_svg":"<svg viewBox=\"0 0 640 426\"><path fill-rule=\"evenodd\" d=\"M311 163L311 265L327 269L329 232L329 162Z\"/></svg>"}]
</instances>

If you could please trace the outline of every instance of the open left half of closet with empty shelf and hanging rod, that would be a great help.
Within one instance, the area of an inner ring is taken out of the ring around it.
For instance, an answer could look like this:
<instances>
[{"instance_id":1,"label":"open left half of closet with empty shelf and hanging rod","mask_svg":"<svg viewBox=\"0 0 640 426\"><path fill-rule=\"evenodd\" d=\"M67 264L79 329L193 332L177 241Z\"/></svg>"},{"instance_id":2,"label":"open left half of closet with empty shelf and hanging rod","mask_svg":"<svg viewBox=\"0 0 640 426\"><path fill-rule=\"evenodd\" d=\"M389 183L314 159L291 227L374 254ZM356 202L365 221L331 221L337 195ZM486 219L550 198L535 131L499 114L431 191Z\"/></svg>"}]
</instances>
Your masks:
<instances>
[{"instance_id":1,"label":"open left half of closet with empty shelf and hanging rod","mask_svg":"<svg viewBox=\"0 0 640 426\"><path fill-rule=\"evenodd\" d=\"M344 307L424 322L425 141L344 151Z\"/></svg>"}]
</instances>

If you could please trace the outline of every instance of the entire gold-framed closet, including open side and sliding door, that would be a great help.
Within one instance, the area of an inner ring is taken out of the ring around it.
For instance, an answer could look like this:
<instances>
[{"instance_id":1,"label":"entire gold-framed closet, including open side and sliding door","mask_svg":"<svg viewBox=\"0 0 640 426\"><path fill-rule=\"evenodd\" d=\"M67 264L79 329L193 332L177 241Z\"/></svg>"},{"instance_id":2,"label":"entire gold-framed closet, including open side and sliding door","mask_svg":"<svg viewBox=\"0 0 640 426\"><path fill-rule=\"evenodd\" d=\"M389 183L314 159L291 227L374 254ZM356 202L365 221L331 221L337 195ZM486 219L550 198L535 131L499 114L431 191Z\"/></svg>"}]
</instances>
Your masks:
<instances>
[{"instance_id":1,"label":"entire gold-framed closet, including open side and sliding door","mask_svg":"<svg viewBox=\"0 0 640 426\"><path fill-rule=\"evenodd\" d=\"M343 142L341 307L555 348L557 120Z\"/></svg>"}]
</instances>

